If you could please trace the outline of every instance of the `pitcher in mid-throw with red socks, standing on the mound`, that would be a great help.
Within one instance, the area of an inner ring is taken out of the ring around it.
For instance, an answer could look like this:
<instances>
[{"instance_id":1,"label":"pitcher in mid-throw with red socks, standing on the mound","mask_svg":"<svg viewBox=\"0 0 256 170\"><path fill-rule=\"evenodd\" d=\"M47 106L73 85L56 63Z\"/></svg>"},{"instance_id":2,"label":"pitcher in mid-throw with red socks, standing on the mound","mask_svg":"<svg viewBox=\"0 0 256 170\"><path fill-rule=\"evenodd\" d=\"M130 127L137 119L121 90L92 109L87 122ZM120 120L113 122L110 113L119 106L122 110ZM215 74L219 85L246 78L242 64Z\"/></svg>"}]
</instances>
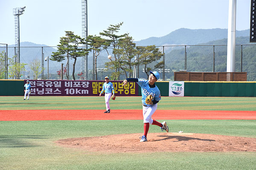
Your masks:
<instances>
[{"instance_id":1,"label":"pitcher in mid-throw with red socks, standing on the mound","mask_svg":"<svg viewBox=\"0 0 256 170\"><path fill-rule=\"evenodd\" d=\"M157 71L153 71L153 72L150 71L150 73L151 74L148 77L148 80L143 80L138 78L127 78L123 81L123 86L125 86L129 81L133 81L133 82L137 82L138 85L140 85L141 87L144 135L140 137L141 138L140 142L147 141L149 125L157 125L161 127L162 130L166 130L166 132L169 132L169 127L167 126L166 122L160 123L151 118L151 116L157 110L157 103L161 100L161 94L160 94L160 90L154 84L157 81L157 79L160 78L159 73ZM151 95L152 101L150 99L150 101L148 102L148 98L150 95Z\"/></svg>"}]
</instances>

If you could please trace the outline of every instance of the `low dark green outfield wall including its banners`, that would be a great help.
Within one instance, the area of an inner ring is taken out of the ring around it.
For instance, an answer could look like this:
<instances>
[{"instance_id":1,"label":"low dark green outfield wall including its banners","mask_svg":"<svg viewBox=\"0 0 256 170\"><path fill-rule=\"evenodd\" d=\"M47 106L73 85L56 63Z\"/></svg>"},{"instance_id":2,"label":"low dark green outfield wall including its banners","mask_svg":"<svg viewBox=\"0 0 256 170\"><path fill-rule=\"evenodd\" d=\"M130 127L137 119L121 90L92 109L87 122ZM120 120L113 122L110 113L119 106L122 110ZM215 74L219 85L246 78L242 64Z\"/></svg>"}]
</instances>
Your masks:
<instances>
[{"instance_id":1,"label":"low dark green outfield wall including its banners","mask_svg":"<svg viewBox=\"0 0 256 170\"><path fill-rule=\"evenodd\" d=\"M141 96L136 82L111 81L116 96ZM30 80L33 96L99 96L104 81ZM0 80L0 96L23 96L26 80ZM175 84L171 86L171 84ZM182 84L182 85L181 85ZM256 97L256 82L156 82L161 96Z\"/></svg>"}]
</instances>

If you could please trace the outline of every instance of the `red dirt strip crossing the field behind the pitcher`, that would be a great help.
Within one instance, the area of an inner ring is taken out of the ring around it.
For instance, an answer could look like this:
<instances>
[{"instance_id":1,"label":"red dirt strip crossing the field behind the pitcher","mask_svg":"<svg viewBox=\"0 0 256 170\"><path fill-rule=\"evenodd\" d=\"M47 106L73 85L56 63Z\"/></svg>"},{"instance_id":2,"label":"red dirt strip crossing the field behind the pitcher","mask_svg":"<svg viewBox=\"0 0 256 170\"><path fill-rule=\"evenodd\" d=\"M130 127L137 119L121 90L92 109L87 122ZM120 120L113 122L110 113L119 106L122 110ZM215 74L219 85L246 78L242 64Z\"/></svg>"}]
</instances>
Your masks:
<instances>
[{"instance_id":1,"label":"red dirt strip crossing the field behind the pitcher","mask_svg":"<svg viewBox=\"0 0 256 170\"><path fill-rule=\"evenodd\" d=\"M157 110L153 119L256 119L256 111ZM9 110L0 111L0 121L33 120L135 120L142 110Z\"/></svg>"}]
</instances>

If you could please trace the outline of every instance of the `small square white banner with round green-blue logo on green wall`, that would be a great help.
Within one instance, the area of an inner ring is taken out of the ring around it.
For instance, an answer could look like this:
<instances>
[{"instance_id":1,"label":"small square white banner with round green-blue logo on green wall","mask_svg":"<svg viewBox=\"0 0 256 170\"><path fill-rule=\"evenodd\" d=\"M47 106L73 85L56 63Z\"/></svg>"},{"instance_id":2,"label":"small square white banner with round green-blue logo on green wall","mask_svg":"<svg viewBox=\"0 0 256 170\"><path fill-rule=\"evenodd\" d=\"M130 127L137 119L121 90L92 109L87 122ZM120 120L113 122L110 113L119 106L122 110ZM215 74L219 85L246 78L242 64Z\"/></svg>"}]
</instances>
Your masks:
<instances>
[{"instance_id":1,"label":"small square white banner with round green-blue logo on green wall","mask_svg":"<svg viewBox=\"0 0 256 170\"><path fill-rule=\"evenodd\" d=\"M169 82L169 96L184 96L184 82Z\"/></svg>"}]
</instances>

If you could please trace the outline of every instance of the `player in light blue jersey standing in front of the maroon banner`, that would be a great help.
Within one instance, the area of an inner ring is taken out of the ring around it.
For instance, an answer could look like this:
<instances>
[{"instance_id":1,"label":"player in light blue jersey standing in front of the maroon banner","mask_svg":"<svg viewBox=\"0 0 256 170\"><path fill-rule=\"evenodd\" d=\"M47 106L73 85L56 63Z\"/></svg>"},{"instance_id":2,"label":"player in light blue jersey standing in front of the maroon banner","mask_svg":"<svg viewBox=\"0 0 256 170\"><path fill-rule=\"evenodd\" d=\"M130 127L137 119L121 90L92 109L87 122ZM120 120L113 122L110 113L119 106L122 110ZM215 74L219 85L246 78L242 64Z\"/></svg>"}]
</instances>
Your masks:
<instances>
[{"instance_id":1,"label":"player in light blue jersey standing in front of the maroon banner","mask_svg":"<svg viewBox=\"0 0 256 170\"><path fill-rule=\"evenodd\" d=\"M111 98L111 95L113 93L113 96L115 94L114 92L114 86L112 82L109 81L109 77L105 77L105 83L103 84L102 91L100 92L99 96L105 92L105 103L106 103L106 111L104 113L110 113L110 106L109 106L109 99Z\"/></svg>"}]
</instances>

